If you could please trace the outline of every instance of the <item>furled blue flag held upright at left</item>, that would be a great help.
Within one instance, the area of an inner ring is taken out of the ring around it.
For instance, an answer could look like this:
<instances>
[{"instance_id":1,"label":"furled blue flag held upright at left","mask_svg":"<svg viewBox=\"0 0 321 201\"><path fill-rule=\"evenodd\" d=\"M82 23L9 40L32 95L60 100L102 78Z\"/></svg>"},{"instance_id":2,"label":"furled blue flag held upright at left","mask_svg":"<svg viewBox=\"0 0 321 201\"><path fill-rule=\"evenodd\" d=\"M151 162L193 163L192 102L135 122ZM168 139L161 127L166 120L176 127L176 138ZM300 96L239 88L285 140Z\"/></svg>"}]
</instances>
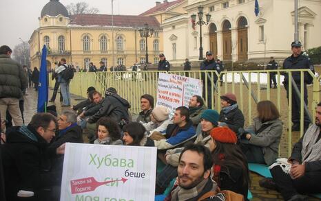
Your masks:
<instances>
[{"instance_id":1,"label":"furled blue flag held upright at left","mask_svg":"<svg viewBox=\"0 0 321 201\"><path fill-rule=\"evenodd\" d=\"M39 88L38 88L38 106L37 112L46 112L47 102L48 102L48 79L47 79L47 49L43 45L41 54L41 65L40 65L40 75L39 75Z\"/></svg>"}]
</instances>

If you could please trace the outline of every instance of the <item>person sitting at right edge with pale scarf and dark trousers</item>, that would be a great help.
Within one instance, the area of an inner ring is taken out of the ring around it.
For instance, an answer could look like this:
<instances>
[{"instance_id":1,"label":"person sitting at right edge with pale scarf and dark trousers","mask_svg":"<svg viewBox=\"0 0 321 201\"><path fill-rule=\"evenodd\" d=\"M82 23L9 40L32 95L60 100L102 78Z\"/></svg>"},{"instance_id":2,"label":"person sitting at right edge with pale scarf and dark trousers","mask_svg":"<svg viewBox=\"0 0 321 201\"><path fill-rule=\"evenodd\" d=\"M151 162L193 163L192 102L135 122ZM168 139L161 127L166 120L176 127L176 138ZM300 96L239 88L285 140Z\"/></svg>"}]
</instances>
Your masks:
<instances>
[{"instance_id":1,"label":"person sitting at right edge with pale scarf and dark trousers","mask_svg":"<svg viewBox=\"0 0 321 201\"><path fill-rule=\"evenodd\" d=\"M315 116L315 124L294 145L289 160L280 158L270 166L273 179L260 181L261 187L278 189L284 200L308 200L300 193L321 192L321 102Z\"/></svg>"}]
</instances>

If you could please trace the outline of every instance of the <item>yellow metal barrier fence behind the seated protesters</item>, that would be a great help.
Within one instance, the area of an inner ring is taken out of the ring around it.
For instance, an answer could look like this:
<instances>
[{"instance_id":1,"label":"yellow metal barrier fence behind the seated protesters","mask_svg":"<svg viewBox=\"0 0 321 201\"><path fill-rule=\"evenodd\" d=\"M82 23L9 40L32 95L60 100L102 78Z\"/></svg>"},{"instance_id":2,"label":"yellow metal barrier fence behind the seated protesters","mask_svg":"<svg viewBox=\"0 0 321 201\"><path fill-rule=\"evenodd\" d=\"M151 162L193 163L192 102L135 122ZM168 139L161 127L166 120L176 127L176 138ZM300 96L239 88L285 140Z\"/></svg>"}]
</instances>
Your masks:
<instances>
[{"instance_id":1,"label":"yellow metal barrier fence behind the seated protesters","mask_svg":"<svg viewBox=\"0 0 321 201\"><path fill-rule=\"evenodd\" d=\"M292 73L300 72L301 83L299 90L304 91L304 72L309 73L313 77L313 84L307 86L309 114L312 123L315 119L315 107L320 102L320 78L315 76L309 69L296 69L296 70L278 70L278 71L223 71L218 74L216 71L169 71L168 73L176 75L186 75L190 78L200 79L203 75L205 84L203 91L205 91L205 102L207 102L207 93L211 93L211 106L213 109L220 111L220 95L227 92L234 93L238 100L238 106L242 113L245 115L245 126L249 126L253 117L256 116L256 104L261 100L271 100L276 104L280 111L281 119L285 125L284 130L289 130L288 139L288 153L291 154L290 145L292 141L291 132L291 97L292 93L296 93L289 79L289 104L287 100L287 93L282 84L284 73L291 78ZM155 97L157 93L157 78L160 71L125 71L125 72L97 72L97 73L75 73L74 78L70 82L70 93L86 97L86 90L89 86L94 86L97 91L104 94L105 90L109 87L114 87L121 97L130 102L132 113L138 114L140 111L140 97L147 93ZM270 88L270 73L276 73L277 88ZM203 73L203 74L202 74ZM205 73L205 74L204 74ZM204 76L205 75L205 76ZM207 76L206 76L207 75ZM222 86L220 82L214 82L214 75L220 80L222 76ZM50 86L54 86L54 81L50 80ZM210 87L209 86L214 86ZM298 91L298 90L297 90ZM300 94L300 99L303 100L303 93ZM303 134L304 128L304 102L300 102L300 136Z\"/></svg>"}]
</instances>

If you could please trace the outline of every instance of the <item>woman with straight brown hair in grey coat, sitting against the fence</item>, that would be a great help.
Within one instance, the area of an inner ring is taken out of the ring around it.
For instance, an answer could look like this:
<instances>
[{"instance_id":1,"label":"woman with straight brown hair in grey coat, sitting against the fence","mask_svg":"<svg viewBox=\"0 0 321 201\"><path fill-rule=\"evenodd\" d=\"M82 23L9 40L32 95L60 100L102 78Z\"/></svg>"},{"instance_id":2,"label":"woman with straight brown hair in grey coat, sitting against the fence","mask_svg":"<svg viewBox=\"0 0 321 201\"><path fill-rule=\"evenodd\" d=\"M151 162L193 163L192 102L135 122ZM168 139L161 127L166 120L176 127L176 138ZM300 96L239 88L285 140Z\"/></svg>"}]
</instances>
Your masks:
<instances>
[{"instance_id":1,"label":"woman with straight brown hair in grey coat, sitting against the fence","mask_svg":"<svg viewBox=\"0 0 321 201\"><path fill-rule=\"evenodd\" d=\"M240 147L248 163L271 165L278 158L282 135L280 113L269 100L258 102L257 110L258 117L240 136Z\"/></svg>"}]
</instances>

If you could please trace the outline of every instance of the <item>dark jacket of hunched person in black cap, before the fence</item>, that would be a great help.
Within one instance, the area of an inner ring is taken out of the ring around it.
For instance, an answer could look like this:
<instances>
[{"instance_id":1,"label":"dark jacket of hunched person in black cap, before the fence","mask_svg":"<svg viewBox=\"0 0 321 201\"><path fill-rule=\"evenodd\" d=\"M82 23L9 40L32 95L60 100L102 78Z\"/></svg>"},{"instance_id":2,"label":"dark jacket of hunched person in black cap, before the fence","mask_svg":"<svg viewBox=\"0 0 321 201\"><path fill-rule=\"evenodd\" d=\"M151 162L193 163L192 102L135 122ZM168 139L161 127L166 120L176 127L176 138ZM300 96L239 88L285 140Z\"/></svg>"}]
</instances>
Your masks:
<instances>
[{"instance_id":1,"label":"dark jacket of hunched person in black cap, before the fence","mask_svg":"<svg viewBox=\"0 0 321 201\"><path fill-rule=\"evenodd\" d=\"M130 103L119 95L107 95L101 104L101 108L97 113L88 119L88 123L95 123L101 117L109 117L118 122L122 119L129 121L130 113L128 112Z\"/></svg>"}]
</instances>

